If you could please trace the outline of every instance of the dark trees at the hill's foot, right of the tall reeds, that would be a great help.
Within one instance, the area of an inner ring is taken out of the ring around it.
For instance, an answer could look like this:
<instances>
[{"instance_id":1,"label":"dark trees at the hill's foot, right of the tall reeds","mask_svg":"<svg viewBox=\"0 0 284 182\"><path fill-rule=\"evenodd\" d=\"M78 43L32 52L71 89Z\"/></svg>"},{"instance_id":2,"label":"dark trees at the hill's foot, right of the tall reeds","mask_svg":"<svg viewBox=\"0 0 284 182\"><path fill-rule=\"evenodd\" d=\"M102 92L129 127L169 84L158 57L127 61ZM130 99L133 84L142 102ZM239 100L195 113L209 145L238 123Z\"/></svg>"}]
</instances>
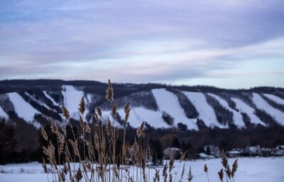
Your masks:
<instances>
[{"instance_id":1,"label":"dark trees at the hill's foot, right of the tall reeds","mask_svg":"<svg viewBox=\"0 0 284 182\"><path fill-rule=\"evenodd\" d=\"M202 122L202 121L201 121ZM244 148L260 145L261 147L274 148L284 144L284 127L250 125L248 128L220 129L218 127L200 127L200 130L154 130L148 128L147 135L165 147L178 147L187 150L187 157L194 159L197 154L204 151L204 145L213 144L219 149L228 151L233 148Z\"/></svg>"}]
</instances>

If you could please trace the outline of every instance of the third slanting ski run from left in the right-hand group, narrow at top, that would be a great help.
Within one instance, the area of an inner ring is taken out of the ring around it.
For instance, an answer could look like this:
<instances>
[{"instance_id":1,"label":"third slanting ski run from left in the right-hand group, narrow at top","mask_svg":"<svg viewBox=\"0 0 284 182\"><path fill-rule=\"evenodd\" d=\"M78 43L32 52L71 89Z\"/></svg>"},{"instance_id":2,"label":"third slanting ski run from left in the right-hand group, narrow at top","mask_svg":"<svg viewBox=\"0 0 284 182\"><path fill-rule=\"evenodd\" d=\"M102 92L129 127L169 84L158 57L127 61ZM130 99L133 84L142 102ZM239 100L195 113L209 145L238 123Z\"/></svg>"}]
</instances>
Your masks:
<instances>
[{"instance_id":1,"label":"third slanting ski run from left in the right-hand group, narrow at top","mask_svg":"<svg viewBox=\"0 0 284 182\"><path fill-rule=\"evenodd\" d=\"M241 113L237 112L236 110L232 109L229 106L229 103L227 103L223 98L213 94L213 93L208 93L209 96L212 96L213 98L215 98L224 108L226 108L227 110L231 111L233 113L233 120L234 120L234 124L239 126L239 127L245 127L245 123L243 120L243 116L241 115Z\"/></svg>"}]
</instances>

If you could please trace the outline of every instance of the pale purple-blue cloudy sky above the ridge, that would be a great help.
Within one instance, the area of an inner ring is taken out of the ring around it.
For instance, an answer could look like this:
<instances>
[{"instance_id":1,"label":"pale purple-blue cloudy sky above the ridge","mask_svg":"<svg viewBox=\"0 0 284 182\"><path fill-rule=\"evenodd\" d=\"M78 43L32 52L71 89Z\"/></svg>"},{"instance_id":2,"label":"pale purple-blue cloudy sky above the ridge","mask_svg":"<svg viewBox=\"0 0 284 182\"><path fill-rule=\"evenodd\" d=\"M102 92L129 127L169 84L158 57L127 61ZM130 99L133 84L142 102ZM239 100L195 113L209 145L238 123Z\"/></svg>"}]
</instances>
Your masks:
<instances>
[{"instance_id":1,"label":"pale purple-blue cloudy sky above the ridge","mask_svg":"<svg viewBox=\"0 0 284 182\"><path fill-rule=\"evenodd\" d=\"M0 80L284 87L283 0L0 0Z\"/></svg>"}]
</instances>

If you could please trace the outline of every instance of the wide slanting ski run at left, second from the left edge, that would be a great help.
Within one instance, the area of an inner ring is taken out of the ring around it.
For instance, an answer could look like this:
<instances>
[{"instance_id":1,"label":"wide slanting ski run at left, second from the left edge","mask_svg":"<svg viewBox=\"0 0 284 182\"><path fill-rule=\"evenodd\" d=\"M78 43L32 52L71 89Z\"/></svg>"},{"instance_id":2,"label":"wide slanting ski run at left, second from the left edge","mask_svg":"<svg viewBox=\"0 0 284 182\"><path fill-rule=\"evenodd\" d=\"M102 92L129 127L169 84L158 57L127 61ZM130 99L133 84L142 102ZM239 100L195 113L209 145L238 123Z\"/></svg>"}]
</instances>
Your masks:
<instances>
[{"instance_id":1,"label":"wide slanting ski run at left, second from the left edge","mask_svg":"<svg viewBox=\"0 0 284 182\"><path fill-rule=\"evenodd\" d=\"M32 123L36 128L39 128L40 124L34 122L33 117L35 114L40 114L40 112L27 103L18 93L8 93L8 96L13 103L18 117L23 118L27 123Z\"/></svg>"}]
</instances>

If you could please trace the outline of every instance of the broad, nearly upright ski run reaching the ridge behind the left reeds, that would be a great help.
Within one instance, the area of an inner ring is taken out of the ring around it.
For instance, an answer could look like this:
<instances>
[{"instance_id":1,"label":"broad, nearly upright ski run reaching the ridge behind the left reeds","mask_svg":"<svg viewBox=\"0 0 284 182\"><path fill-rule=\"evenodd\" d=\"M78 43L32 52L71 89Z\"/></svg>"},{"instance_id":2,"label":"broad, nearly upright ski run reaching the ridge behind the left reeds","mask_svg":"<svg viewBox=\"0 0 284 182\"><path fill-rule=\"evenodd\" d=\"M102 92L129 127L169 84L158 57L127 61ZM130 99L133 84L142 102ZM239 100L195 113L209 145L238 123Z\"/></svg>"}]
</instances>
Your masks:
<instances>
[{"instance_id":1,"label":"broad, nearly upright ski run reaching the ridge behind the left reeds","mask_svg":"<svg viewBox=\"0 0 284 182\"><path fill-rule=\"evenodd\" d=\"M74 86L71 85L63 85L62 86L62 95L64 98L64 106L70 113L71 118L78 119L79 112L79 103L81 101L82 96L84 96L83 91L77 91ZM87 104L87 103L86 103ZM86 110L87 113L87 110Z\"/></svg>"}]
</instances>

